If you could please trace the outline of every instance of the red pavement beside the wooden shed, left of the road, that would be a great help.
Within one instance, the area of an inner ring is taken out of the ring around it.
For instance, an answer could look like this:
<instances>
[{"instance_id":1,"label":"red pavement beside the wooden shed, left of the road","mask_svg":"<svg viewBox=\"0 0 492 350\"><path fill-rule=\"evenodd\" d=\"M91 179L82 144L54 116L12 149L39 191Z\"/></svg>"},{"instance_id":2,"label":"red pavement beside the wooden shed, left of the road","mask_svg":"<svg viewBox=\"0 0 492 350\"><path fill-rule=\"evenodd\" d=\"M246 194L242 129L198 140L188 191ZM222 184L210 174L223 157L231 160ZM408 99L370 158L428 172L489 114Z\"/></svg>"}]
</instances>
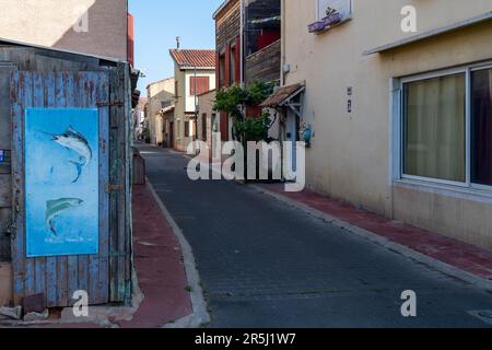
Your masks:
<instances>
[{"instance_id":1,"label":"red pavement beside the wooden shed, left of the road","mask_svg":"<svg viewBox=\"0 0 492 350\"><path fill-rule=\"evenodd\" d=\"M177 237L147 185L133 187L133 246L144 300L124 328L155 328L192 313Z\"/></svg>"}]
</instances>

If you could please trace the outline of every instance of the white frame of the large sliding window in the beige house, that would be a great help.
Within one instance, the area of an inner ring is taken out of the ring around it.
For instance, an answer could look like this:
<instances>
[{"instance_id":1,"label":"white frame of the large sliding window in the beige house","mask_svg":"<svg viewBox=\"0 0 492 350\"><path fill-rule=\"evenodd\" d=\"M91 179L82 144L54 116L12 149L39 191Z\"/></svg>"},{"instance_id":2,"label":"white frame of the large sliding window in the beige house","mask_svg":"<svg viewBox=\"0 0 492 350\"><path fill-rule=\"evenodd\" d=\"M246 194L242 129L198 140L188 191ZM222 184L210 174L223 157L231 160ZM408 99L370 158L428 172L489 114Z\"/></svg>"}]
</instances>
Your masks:
<instances>
[{"instance_id":1,"label":"white frame of the large sliding window in the beige house","mask_svg":"<svg viewBox=\"0 0 492 350\"><path fill-rule=\"evenodd\" d=\"M420 183L426 185L445 186L447 188L459 188L469 190L479 190L492 195L492 186L475 184L471 182L471 73L473 71L492 69L492 61L484 63L475 63L460 66L452 69L443 69L438 71L409 75L399 79L391 79L391 158L393 158L393 179L408 183ZM403 86L407 83L423 81L434 78L441 78L453 74L465 74L465 166L466 177L465 182L453 182L440 178L415 176L405 174L405 145L403 145L403 132L405 132L405 105L403 105Z\"/></svg>"}]
</instances>

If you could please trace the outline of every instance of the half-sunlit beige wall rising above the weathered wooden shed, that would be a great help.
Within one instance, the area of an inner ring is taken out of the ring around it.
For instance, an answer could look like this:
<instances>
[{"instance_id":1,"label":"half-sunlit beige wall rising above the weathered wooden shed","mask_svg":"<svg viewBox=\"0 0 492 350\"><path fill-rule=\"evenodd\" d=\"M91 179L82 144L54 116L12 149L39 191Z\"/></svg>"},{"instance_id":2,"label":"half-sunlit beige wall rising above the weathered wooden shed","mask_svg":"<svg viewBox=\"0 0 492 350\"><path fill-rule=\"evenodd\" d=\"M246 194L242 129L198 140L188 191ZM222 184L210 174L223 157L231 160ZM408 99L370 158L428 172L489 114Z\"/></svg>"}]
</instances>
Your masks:
<instances>
[{"instance_id":1,"label":"half-sunlit beige wall rising above the weathered wooden shed","mask_svg":"<svg viewBox=\"0 0 492 350\"><path fill-rule=\"evenodd\" d=\"M1 0L0 37L127 59L127 0ZM73 26L86 13L87 32Z\"/></svg>"}]
</instances>

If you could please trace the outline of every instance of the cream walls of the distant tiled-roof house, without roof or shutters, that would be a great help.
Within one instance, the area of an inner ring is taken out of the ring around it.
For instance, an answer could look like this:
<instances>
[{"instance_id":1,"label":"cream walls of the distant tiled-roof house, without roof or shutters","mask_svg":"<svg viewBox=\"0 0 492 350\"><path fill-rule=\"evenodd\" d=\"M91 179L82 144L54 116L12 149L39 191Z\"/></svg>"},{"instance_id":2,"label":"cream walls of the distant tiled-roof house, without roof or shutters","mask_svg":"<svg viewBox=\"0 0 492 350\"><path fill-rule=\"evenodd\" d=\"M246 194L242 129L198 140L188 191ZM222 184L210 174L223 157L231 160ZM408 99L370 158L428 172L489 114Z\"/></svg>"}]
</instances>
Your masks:
<instances>
[{"instance_id":1,"label":"cream walls of the distant tiled-roof house, without roof or shutters","mask_svg":"<svg viewBox=\"0 0 492 350\"><path fill-rule=\"evenodd\" d=\"M175 109L175 145L179 151L186 151L189 142L192 141L194 121L190 119L190 113L195 112L195 96L190 95L189 78L195 75L195 70L181 70L175 65L174 77L178 83L178 91L176 93L176 109ZM215 71L199 69L197 77L209 77L210 89L215 89ZM189 137L185 137L185 122L189 121Z\"/></svg>"}]
</instances>

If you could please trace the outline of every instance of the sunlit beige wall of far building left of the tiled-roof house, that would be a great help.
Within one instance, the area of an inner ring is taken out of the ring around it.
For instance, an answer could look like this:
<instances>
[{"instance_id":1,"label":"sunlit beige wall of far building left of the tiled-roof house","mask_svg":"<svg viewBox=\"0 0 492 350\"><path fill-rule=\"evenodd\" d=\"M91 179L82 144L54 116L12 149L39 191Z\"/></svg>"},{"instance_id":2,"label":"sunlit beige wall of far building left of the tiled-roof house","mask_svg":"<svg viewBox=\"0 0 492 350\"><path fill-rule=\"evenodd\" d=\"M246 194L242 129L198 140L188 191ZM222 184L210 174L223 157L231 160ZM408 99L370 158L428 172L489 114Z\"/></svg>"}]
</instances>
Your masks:
<instances>
[{"instance_id":1,"label":"sunlit beige wall of far building left of the tiled-roof house","mask_svg":"<svg viewBox=\"0 0 492 350\"><path fill-rule=\"evenodd\" d=\"M174 103L174 78L164 79L147 86L148 107L145 118L149 122L151 142L160 144L163 141L162 129L157 130L157 113L162 107L163 101Z\"/></svg>"}]
</instances>

